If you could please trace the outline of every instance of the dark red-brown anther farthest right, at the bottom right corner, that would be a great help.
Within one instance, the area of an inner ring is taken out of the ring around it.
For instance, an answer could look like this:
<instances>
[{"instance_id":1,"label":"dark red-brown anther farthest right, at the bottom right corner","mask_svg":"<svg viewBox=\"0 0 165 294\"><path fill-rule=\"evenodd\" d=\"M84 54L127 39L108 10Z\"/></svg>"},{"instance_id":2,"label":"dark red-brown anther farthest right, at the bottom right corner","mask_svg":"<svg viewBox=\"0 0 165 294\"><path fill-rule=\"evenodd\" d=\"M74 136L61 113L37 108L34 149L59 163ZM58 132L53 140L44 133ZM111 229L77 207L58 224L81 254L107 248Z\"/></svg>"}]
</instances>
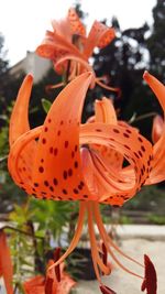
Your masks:
<instances>
[{"instance_id":1,"label":"dark red-brown anther farthest right, at the bottom right corner","mask_svg":"<svg viewBox=\"0 0 165 294\"><path fill-rule=\"evenodd\" d=\"M150 258L144 254L145 276L142 283L141 290L146 290L146 294L157 293L157 276L154 264Z\"/></svg>"}]
</instances>

